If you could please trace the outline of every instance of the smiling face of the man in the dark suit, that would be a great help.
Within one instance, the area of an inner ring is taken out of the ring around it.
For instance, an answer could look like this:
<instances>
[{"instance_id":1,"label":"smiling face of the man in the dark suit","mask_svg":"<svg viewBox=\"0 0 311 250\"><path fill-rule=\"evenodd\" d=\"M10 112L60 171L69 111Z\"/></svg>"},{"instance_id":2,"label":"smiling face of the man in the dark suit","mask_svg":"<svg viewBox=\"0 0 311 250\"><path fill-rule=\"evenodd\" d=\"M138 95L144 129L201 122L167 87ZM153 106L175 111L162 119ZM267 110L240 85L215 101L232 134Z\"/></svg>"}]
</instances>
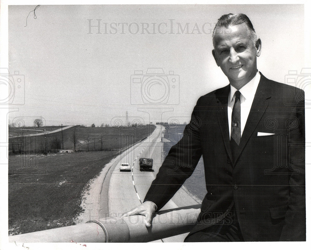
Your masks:
<instances>
[{"instance_id":1,"label":"smiling face of the man in the dark suit","mask_svg":"<svg viewBox=\"0 0 311 250\"><path fill-rule=\"evenodd\" d=\"M257 56L261 52L261 41L256 47L245 23L220 27L214 35L215 49L212 51L217 65L237 89L248 83L257 72Z\"/></svg>"}]
</instances>

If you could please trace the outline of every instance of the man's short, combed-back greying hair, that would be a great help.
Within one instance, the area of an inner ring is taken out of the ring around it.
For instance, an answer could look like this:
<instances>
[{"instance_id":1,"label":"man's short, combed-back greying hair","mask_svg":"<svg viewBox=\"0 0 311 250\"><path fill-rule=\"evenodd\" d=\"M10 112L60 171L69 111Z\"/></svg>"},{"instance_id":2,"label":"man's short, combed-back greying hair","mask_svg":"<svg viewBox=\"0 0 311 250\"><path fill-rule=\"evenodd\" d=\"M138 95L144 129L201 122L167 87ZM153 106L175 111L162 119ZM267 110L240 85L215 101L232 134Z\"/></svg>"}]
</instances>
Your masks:
<instances>
[{"instance_id":1,"label":"man's short, combed-back greying hair","mask_svg":"<svg viewBox=\"0 0 311 250\"><path fill-rule=\"evenodd\" d=\"M238 25L238 24L242 24L245 23L246 26L248 27L248 31L249 31L249 36L253 41L254 46L256 47L256 41L257 41L257 35L255 32L255 29L253 27L252 22L249 20L248 16L246 16L245 14L225 14L222 15L216 25L215 28L213 30L213 45L215 48L215 39L214 39L214 34L215 32L217 33L216 29L220 28L220 27L225 27L228 28L229 26L233 26L233 25Z\"/></svg>"}]
</instances>

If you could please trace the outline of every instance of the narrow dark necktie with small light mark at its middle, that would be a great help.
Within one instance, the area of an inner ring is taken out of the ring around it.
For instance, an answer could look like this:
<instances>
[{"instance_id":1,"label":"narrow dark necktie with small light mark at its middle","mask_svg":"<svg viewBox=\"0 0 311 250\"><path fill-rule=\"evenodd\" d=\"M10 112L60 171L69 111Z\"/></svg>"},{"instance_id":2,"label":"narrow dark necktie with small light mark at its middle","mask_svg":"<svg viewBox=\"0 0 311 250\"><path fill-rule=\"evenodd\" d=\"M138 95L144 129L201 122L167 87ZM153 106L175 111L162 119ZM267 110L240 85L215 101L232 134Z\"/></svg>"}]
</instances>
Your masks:
<instances>
[{"instance_id":1,"label":"narrow dark necktie with small light mark at its middle","mask_svg":"<svg viewBox=\"0 0 311 250\"><path fill-rule=\"evenodd\" d=\"M235 101L232 109L231 115L231 138L230 138L230 146L232 150L232 156L235 160L236 151L239 148L240 140L241 140L241 93L238 91L235 92Z\"/></svg>"}]
</instances>

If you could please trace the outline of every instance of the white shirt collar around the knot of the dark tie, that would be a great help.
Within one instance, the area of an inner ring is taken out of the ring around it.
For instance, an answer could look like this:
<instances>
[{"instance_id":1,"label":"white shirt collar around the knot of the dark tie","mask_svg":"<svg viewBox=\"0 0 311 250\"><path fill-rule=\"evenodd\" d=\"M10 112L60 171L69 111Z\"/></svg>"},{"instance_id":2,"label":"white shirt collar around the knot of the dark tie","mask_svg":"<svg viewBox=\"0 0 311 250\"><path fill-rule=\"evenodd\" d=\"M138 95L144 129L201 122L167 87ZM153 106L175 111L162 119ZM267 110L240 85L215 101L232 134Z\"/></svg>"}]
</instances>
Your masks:
<instances>
[{"instance_id":1,"label":"white shirt collar around the knot of the dark tie","mask_svg":"<svg viewBox=\"0 0 311 250\"><path fill-rule=\"evenodd\" d=\"M253 99L253 97L255 96L255 92L257 90L258 84L259 84L259 80L260 80L260 73L257 70L257 73L253 77L253 79L240 88L239 91L241 93L241 96L244 97L244 100ZM236 91L237 89L230 84L229 103L234 101L233 97Z\"/></svg>"}]
</instances>

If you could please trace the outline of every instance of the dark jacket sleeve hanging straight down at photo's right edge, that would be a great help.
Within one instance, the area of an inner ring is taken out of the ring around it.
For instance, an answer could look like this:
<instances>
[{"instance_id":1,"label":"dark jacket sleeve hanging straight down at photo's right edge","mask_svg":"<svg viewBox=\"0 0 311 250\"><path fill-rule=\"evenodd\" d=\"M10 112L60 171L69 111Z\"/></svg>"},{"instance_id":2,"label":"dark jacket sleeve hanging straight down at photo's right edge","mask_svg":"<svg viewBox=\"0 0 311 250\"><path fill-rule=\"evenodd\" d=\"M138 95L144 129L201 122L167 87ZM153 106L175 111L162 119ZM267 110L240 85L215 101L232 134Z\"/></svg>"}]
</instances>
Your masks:
<instances>
[{"instance_id":1,"label":"dark jacket sleeve hanging straight down at photo's right edge","mask_svg":"<svg viewBox=\"0 0 311 250\"><path fill-rule=\"evenodd\" d=\"M280 241L306 240L304 91L296 89L295 92L291 115L293 119L288 124L289 163L292 170L289 179L290 196Z\"/></svg>"}]
</instances>

